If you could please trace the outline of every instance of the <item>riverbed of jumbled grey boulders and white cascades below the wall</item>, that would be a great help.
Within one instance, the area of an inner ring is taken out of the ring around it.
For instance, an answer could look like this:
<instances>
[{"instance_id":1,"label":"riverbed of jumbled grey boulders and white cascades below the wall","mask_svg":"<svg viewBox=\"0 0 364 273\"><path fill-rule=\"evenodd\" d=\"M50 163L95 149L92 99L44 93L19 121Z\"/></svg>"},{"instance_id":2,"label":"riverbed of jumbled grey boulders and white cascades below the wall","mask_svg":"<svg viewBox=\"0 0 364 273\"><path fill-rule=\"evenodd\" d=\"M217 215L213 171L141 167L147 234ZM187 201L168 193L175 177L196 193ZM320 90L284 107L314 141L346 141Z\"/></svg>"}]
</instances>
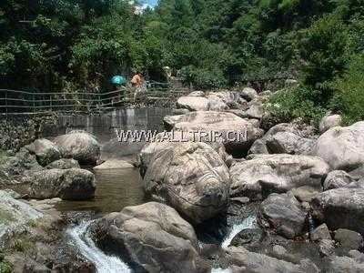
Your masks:
<instances>
[{"instance_id":1,"label":"riverbed of jumbled grey boulders and white cascades below the wall","mask_svg":"<svg viewBox=\"0 0 364 273\"><path fill-rule=\"evenodd\" d=\"M278 123L268 96L244 88L180 97L163 122L187 140L158 135L135 161L104 162L112 141L85 131L2 157L0 272L364 271L364 121ZM246 137L192 141L201 130ZM144 191L133 206L72 208L99 196L99 172L135 166L137 179L122 172ZM73 205L60 211L65 202Z\"/></svg>"}]
</instances>

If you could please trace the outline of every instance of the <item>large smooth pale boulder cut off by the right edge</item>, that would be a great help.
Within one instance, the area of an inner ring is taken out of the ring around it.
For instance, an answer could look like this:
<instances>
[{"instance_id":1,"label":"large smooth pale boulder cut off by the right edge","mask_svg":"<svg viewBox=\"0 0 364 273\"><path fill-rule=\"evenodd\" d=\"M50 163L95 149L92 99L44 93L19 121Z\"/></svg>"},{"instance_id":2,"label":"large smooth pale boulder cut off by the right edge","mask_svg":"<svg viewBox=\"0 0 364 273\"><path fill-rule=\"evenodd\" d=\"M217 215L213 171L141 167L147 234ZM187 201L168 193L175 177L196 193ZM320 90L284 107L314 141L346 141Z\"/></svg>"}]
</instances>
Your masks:
<instances>
[{"instance_id":1,"label":"large smooth pale boulder cut off by the right edge","mask_svg":"<svg viewBox=\"0 0 364 273\"><path fill-rule=\"evenodd\" d=\"M324 159L332 169L360 167L364 164L364 121L329 129L319 136L311 154Z\"/></svg>"}]
</instances>

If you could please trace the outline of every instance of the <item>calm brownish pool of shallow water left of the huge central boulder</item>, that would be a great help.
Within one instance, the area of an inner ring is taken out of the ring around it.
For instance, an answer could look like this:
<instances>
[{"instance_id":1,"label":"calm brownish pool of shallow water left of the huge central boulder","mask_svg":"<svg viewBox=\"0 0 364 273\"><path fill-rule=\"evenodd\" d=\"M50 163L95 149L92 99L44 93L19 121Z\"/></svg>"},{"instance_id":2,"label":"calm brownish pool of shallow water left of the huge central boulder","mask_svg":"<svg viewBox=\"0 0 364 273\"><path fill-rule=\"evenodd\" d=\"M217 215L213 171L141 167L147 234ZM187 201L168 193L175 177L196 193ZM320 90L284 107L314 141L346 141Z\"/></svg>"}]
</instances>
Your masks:
<instances>
[{"instance_id":1,"label":"calm brownish pool of shallow water left of the huge central boulder","mask_svg":"<svg viewBox=\"0 0 364 273\"><path fill-rule=\"evenodd\" d=\"M107 214L146 202L142 180L137 168L94 171L96 196L88 201L61 201L57 209L63 212L87 210Z\"/></svg>"}]
</instances>

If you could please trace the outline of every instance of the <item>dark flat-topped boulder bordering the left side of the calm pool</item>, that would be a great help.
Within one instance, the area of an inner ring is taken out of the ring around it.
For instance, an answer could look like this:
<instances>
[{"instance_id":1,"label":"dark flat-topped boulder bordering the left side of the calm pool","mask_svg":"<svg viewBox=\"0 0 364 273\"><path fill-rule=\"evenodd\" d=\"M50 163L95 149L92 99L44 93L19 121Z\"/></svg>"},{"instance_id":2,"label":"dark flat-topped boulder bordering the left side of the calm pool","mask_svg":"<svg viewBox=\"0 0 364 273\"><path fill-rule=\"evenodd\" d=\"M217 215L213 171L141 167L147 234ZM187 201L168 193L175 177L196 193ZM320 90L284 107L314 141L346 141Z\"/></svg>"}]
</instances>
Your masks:
<instances>
[{"instance_id":1,"label":"dark flat-topped boulder bordering the left side of the calm pool","mask_svg":"<svg viewBox=\"0 0 364 273\"><path fill-rule=\"evenodd\" d=\"M29 197L36 199L85 200L95 196L95 177L86 169L46 169L25 177L24 181L29 183Z\"/></svg>"}]
</instances>

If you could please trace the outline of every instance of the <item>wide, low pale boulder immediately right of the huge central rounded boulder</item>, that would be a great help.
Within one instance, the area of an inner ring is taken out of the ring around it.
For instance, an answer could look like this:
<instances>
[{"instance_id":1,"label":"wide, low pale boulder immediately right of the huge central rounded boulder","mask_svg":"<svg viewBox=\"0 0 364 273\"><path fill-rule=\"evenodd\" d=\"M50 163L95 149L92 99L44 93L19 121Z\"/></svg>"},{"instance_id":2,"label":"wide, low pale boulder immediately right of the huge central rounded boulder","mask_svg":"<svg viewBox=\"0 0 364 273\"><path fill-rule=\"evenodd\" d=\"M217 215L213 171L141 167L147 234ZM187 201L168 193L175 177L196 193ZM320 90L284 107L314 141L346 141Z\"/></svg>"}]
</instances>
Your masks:
<instances>
[{"instance_id":1,"label":"wide, low pale boulder immediately right of the huge central rounded boulder","mask_svg":"<svg viewBox=\"0 0 364 273\"><path fill-rule=\"evenodd\" d=\"M295 187L309 186L321 191L321 180L329 166L319 157L254 155L230 167L233 197L261 199L270 193L283 193Z\"/></svg>"}]
</instances>

